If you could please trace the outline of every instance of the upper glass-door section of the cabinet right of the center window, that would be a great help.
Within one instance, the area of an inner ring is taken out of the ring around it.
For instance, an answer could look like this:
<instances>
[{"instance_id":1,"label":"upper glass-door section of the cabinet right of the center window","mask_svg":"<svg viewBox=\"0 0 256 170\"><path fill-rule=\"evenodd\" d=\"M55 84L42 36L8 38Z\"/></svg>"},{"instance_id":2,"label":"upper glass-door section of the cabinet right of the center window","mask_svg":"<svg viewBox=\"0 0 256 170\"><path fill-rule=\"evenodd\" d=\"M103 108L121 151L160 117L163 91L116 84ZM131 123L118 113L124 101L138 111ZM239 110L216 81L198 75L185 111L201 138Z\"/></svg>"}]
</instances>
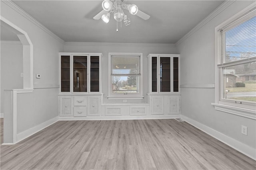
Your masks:
<instances>
[{"instance_id":1,"label":"upper glass-door section of the cabinet right of the center window","mask_svg":"<svg viewBox=\"0 0 256 170\"><path fill-rule=\"evenodd\" d=\"M179 92L179 55L148 55L149 93Z\"/></svg>"}]
</instances>

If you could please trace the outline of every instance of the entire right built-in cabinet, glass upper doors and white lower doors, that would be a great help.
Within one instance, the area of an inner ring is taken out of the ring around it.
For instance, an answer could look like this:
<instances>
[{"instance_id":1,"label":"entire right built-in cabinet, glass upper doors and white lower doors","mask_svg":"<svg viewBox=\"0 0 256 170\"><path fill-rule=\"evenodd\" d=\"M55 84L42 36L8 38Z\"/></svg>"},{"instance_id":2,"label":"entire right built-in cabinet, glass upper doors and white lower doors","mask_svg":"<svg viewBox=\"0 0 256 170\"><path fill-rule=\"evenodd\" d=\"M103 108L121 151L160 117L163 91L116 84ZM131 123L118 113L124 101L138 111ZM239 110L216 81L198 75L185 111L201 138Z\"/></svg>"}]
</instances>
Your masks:
<instances>
[{"instance_id":1,"label":"entire right built-in cabinet, glass upper doors and white lower doors","mask_svg":"<svg viewBox=\"0 0 256 170\"><path fill-rule=\"evenodd\" d=\"M148 103L152 115L180 113L180 55L148 55Z\"/></svg>"}]
</instances>

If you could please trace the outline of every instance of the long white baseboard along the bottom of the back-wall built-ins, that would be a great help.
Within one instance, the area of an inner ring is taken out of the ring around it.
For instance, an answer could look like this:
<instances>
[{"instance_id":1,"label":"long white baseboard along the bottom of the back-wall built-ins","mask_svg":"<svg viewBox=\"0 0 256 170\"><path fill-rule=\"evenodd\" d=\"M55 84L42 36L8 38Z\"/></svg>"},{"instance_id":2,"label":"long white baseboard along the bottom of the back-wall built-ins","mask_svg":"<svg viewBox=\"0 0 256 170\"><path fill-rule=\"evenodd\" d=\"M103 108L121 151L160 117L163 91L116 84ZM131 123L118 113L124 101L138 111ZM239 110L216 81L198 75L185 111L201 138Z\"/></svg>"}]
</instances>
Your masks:
<instances>
[{"instance_id":1,"label":"long white baseboard along the bottom of the back-wall built-ins","mask_svg":"<svg viewBox=\"0 0 256 170\"><path fill-rule=\"evenodd\" d=\"M71 120L138 120L138 119L177 119L180 118L179 114L175 115L127 115L127 116L88 116L88 117L59 117L60 121L71 121Z\"/></svg>"}]
</instances>

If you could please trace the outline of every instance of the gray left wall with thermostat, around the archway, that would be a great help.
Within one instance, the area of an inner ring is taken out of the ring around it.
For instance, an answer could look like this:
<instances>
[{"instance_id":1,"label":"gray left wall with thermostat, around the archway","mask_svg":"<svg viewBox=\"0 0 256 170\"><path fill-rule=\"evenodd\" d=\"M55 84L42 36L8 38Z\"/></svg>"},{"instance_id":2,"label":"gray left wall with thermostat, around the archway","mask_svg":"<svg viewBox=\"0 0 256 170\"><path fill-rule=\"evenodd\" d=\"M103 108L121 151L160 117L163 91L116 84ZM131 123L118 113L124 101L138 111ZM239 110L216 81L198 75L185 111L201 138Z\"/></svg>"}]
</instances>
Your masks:
<instances>
[{"instance_id":1,"label":"gray left wall with thermostat, around the archway","mask_svg":"<svg viewBox=\"0 0 256 170\"><path fill-rule=\"evenodd\" d=\"M17 132L20 133L58 116L58 53L64 51L64 43L46 33L45 30L2 1L1 16L26 31L33 44L35 90L31 94L18 94L17 96ZM7 63L1 62L2 64ZM13 67L13 69L17 68ZM16 72L20 71L16 70ZM36 74L40 74L41 78L36 79Z\"/></svg>"}]
</instances>

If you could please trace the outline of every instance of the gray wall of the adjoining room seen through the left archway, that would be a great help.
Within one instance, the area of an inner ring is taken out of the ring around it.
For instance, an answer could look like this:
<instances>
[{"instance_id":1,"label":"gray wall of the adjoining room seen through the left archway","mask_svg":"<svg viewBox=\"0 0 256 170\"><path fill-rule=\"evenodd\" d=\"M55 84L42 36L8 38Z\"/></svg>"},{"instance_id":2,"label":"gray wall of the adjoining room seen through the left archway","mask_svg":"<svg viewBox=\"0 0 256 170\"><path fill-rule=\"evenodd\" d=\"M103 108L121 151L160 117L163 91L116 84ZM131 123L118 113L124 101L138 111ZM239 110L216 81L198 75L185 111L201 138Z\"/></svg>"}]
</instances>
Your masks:
<instances>
[{"instance_id":1,"label":"gray wall of the adjoining room seen through the left archway","mask_svg":"<svg viewBox=\"0 0 256 170\"><path fill-rule=\"evenodd\" d=\"M4 89L23 88L23 78L20 73L23 72L23 47L22 44L15 41L1 41L1 113L4 113Z\"/></svg>"}]
</instances>

